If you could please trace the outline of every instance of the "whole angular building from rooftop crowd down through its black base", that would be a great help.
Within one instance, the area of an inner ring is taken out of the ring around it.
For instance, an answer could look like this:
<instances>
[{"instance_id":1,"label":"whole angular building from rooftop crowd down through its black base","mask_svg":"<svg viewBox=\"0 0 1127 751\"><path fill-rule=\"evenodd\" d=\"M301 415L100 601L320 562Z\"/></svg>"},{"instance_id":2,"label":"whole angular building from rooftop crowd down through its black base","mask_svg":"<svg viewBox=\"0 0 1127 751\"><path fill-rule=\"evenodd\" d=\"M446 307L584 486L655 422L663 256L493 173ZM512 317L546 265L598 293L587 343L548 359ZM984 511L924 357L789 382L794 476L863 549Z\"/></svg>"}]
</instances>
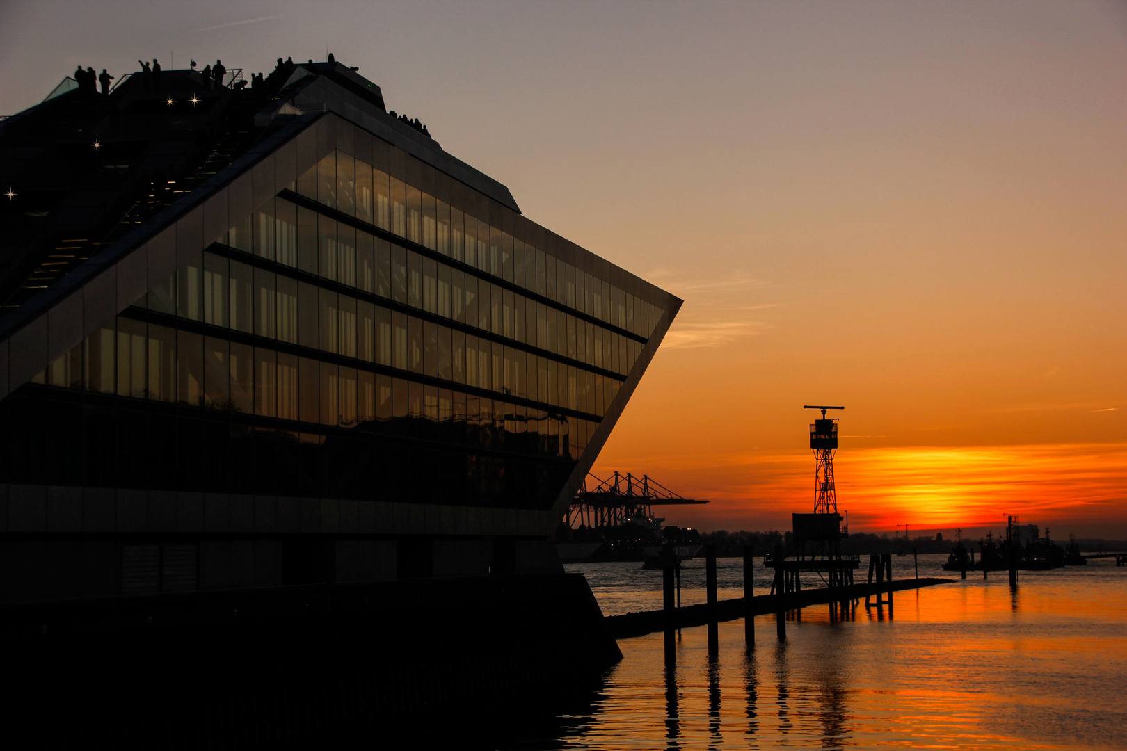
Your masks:
<instances>
[{"instance_id":1,"label":"whole angular building from rooftop crowd down through its black base","mask_svg":"<svg viewBox=\"0 0 1127 751\"><path fill-rule=\"evenodd\" d=\"M69 88L0 122L25 694L193 727L229 700L320 741L613 660L549 537L681 301L340 63Z\"/></svg>"}]
</instances>

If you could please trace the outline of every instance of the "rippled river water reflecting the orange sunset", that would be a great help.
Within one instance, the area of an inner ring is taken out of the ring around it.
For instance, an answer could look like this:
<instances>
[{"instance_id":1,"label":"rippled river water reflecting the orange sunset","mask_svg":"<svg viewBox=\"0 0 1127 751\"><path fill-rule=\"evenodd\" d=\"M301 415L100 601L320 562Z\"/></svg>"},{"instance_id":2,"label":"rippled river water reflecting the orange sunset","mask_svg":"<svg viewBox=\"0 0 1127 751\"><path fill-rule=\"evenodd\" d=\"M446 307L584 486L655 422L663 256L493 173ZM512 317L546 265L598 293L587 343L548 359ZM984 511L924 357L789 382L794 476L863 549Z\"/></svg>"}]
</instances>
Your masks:
<instances>
[{"instance_id":1,"label":"rippled river water reflecting the orange sunset","mask_svg":"<svg viewBox=\"0 0 1127 751\"><path fill-rule=\"evenodd\" d=\"M950 575L946 556L920 575ZM895 575L913 561L894 558ZM720 597L743 593L742 562L721 560ZM703 600L703 561L686 563L684 604ZM604 613L659 606L660 572L639 564L569 566L587 574ZM957 579L957 574L956 574ZM757 571L756 591L769 585ZM663 636L621 640L623 660L550 728L505 748L535 749L1124 749L1127 748L1127 567L1113 561L1005 574L896 593L895 609L832 623L828 606L797 611L788 640L773 616L720 624L708 658L686 628L677 668Z\"/></svg>"}]
</instances>

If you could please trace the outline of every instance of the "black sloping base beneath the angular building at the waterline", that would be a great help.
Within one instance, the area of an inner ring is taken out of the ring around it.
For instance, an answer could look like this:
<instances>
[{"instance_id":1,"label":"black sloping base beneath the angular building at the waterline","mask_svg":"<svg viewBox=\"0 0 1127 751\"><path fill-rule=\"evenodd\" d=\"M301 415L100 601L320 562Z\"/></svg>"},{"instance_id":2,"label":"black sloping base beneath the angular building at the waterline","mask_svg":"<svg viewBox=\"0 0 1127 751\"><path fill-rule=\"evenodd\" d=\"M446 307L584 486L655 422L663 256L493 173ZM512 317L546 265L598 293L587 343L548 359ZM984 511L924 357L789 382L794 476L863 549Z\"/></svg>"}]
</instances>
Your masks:
<instances>
[{"instance_id":1,"label":"black sloping base beneath the angular building at the waterline","mask_svg":"<svg viewBox=\"0 0 1127 751\"><path fill-rule=\"evenodd\" d=\"M380 745L504 718L621 658L577 574L6 606L37 746ZM588 688L589 690L589 688ZM6 733L7 735L7 733ZM8 735L9 739L15 736Z\"/></svg>"}]
</instances>

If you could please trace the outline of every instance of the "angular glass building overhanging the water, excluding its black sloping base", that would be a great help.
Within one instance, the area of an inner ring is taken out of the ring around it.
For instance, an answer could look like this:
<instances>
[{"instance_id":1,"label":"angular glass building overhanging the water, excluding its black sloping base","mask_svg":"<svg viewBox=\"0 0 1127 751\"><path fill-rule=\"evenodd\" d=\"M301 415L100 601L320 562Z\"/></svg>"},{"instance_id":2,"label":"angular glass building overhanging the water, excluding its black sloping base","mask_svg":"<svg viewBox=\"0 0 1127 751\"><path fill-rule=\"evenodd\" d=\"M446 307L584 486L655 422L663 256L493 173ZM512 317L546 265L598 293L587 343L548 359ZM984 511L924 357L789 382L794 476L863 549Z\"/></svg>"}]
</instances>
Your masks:
<instances>
[{"instance_id":1,"label":"angular glass building overhanging the water, excluding its black sloping base","mask_svg":"<svg viewBox=\"0 0 1127 751\"><path fill-rule=\"evenodd\" d=\"M0 601L560 572L681 301L344 65L225 83L2 124Z\"/></svg>"}]
</instances>

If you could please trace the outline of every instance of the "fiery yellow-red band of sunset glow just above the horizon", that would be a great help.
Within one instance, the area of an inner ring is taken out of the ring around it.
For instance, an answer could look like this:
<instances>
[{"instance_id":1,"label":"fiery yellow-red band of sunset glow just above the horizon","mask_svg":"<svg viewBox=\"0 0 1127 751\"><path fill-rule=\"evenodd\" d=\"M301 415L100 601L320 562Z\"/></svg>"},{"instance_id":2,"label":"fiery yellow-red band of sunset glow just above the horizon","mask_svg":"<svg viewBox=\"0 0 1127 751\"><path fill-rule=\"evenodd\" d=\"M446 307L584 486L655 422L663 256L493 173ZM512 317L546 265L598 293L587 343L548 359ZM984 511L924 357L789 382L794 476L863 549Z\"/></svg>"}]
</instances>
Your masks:
<instances>
[{"instance_id":1,"label":"fiery yellow-red band of sunset glow just above the horizon","mask_svg":"<svg viewBox=\"0 0 1127 751\"><path fill-rule=\"evenodd\" d=\"M1127 485L1127 444L849 449L834 464L838 508L855 531L894 534L907 525L980 534L1012 513L1059 538L1111 535ZM595 473L615 468L646 471L623 462ZM671 524L703 528L789 528L790 513L813 504L813 457L801 452L733 455L707 466L682 459L665 464L662 481L712 502L662 512Z\"/></svg>"}]
</instances>

